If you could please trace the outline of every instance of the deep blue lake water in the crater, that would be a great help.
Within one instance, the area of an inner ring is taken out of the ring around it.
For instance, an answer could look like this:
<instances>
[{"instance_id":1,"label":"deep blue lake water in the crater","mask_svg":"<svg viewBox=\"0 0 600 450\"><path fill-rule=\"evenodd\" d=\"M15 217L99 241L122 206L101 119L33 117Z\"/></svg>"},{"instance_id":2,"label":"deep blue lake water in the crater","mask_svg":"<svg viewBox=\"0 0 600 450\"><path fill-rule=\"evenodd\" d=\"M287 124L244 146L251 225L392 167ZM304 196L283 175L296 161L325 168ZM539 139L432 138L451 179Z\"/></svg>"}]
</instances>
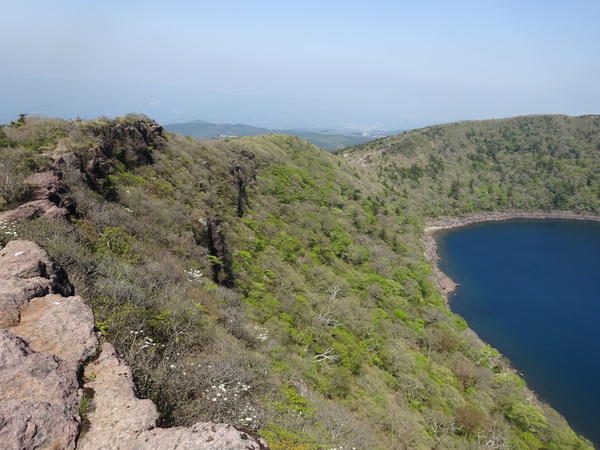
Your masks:
<instances>
[{"instance_id":1,"label":"deep blue lake water in the crater","mask_svg":"<svg viewBox=\"0 0 600 450\"><path fill-rule=\"evenodd\" d=\"M600 447L600 222L514 220L436 236L450 308Z\"/></svg>"}]
</instances>

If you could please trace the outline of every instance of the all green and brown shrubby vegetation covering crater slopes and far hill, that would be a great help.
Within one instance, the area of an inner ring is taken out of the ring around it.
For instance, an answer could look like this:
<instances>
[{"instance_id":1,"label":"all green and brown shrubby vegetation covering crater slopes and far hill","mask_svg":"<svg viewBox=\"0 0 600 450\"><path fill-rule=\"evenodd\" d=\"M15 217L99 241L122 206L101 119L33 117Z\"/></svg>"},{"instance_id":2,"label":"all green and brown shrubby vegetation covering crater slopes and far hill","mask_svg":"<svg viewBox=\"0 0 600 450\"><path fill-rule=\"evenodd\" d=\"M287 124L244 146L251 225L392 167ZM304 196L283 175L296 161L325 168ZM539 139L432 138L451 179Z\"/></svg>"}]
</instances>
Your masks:
<instances>
[{"instance_id":1,"label":"all green and brown shrubby vegetation covering crater slopes and far hill","mask_svg":"<svg viewBox=\"0 0 600 450\"><path fill-rule=\"evenodd\" d=\"M82 176L65 174L70 222L5 223L0 244L33 239L67 269L168 424L229 422L274 449L587 448L448 310L421 238L441 214L596 211L598 125L429 127L344 158L148 134L140 116L22 117L0 129L0 210L61 155Z\"/></svg>"}]
</instances>

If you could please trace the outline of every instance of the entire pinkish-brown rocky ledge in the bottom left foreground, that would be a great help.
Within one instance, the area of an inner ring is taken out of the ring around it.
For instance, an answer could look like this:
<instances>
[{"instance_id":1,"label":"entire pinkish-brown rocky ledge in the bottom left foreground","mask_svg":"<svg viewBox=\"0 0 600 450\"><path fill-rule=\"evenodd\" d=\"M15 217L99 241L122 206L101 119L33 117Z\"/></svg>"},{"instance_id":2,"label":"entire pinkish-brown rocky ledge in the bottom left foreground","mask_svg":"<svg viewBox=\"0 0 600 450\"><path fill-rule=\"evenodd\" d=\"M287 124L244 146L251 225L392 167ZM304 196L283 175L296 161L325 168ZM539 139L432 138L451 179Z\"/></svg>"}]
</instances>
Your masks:
<instances>
[{"instance_id":1,"label":"entire pinkish-brown rocky ledge in the bottom left foreground","mask_svg":"<svg viewBox=\"0 0 600 450\"><path fill-rule=\"evenodd\" d=\"M100 347L92 311L73 293L37 244L16 240L0 250L0 448L267 448L226 424L157 428L156 406L136 396L114 348ZM82 432L84 389L92 401Z\"/></svg>"}]
</instances>

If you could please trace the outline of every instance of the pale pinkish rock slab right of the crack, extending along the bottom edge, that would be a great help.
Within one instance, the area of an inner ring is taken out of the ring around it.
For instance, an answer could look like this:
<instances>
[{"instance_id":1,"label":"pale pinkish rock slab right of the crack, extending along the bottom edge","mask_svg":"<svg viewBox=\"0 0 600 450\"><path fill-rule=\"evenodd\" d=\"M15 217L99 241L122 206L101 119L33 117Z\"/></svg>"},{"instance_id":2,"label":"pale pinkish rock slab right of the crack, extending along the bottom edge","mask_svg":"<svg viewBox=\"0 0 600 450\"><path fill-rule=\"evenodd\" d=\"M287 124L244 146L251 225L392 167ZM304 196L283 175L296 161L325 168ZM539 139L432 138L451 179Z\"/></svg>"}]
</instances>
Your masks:
<instances>
[{"instance_id":1,"label":"pale pinkish rock slab right of the crack, extending along the bottom edge","mask_svg":"<svg viewBox=\"0 0 600 450\"><path fill-rule=\"evenodd\" d=\"M259 436L232 425L211 422L192 427L155 428L159 419L150 400L135 395L131 369L110 344L85 370L93 381L85 388L94 392L89 430L81 437L81 449L266 449Z\"/></svg>"}]
</instances>

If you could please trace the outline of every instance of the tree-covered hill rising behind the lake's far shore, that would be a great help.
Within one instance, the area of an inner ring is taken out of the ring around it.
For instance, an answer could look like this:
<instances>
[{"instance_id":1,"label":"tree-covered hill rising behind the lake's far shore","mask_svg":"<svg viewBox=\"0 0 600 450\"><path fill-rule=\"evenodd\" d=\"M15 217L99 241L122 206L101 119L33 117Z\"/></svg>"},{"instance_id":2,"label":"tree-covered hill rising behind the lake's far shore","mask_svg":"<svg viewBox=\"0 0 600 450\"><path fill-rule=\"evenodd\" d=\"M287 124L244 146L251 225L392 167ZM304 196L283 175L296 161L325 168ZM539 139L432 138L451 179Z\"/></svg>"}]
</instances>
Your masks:
<instances>
[{"instance_id":1,"label":"tree-covered hill rising behind the lake's far shore","mask_svg":"<svg viewBox=\"0 0 600 450\"><path fill-rule=\"evenodd\" d=\"M600 211L600 116L437 125L342 152L410 195L428 217Z\"/></svg>"}]
</instances>

